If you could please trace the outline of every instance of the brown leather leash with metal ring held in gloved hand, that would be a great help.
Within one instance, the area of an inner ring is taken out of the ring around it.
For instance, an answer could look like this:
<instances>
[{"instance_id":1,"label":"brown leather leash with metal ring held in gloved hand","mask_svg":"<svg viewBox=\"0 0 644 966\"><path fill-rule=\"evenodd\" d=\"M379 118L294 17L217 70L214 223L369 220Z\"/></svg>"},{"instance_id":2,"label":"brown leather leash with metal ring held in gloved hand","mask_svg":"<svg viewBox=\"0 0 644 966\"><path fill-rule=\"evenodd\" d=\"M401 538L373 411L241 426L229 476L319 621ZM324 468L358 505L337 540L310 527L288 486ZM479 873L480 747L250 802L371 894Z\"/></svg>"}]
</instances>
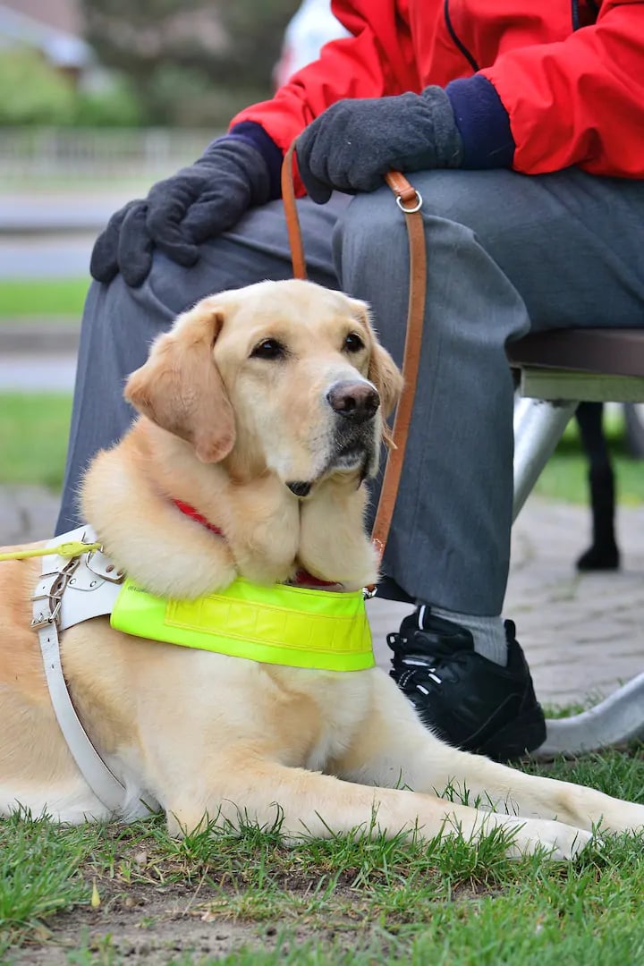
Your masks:
<instances>
[{"instance_id":1,"label":"brown leather leash with metal ring held in gloved hand","mask_svg":"<svg viewBox=\"0 0 644 966\"><path fill-rule=\"evenodd\" d=\"M299 218L295 206L294 144L291 145L284 157L282 165L282 197L286 213L291 258L293 262L294 278L306 278L306 261ZM398 487L400 484L403 463L405 461L406 441L411 422L413 400L418 380L418 366L423 339L423 319L425 316L425 296L427 291L427 253L425 250L425 232L421 208L423 199L415 187L409 184L406 177L399 171L390 171L385 175L385 181L396 196L396 204L405 214L407 237L409 242L409 298L407 303L407 323L405 336L405 352L403 354L404 386L401 398L396 407L394 426L391 433L390 448L387 454L387 465L384 469L382 487L378 501L378 510L374 521L372 540L378 550L379 557L384 553L384 547L389 535L391 519L394 513Z\"/></svg>"}]
</instances>

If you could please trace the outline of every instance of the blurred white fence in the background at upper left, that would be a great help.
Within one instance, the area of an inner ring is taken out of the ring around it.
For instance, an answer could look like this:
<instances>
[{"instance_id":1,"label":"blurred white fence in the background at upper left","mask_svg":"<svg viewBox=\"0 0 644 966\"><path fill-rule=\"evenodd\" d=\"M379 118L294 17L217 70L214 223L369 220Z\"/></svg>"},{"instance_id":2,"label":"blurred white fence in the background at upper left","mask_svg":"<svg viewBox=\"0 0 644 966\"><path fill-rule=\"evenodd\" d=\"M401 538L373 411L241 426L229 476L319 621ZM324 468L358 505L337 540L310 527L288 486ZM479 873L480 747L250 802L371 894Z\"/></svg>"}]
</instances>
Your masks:
<instances>
[{"instance_id":1,"label":"blurred white fence in the background at upper left","mask_svg":"<svg viewBox=\"0 0 644 966\"><path fill-rule=\"evenodd\" d=\"M3 179L150 177L191 163L216 132L183 128L0 128Z\"/></svg>"}]
</instances>

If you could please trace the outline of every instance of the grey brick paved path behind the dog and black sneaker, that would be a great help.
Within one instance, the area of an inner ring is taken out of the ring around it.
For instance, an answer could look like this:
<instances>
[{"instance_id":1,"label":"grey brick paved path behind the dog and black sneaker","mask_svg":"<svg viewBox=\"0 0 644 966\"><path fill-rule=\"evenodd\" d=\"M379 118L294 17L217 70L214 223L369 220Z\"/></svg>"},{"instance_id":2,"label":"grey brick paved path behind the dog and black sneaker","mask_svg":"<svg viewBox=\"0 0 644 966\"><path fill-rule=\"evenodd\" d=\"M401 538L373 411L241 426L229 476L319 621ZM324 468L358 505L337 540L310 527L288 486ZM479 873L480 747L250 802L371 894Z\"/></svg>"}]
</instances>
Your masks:
<instances>
[{"instance_id":1,"label":"grey brick paved path behind the dog and black sneaker","mask_svg":"<svg viewBox=\"0 0 644 966\"><path fill-rule=\"evenodd\" d=\"M57 505L34 488L0 490L0 544L47 536ZM619 525L623 570L583 577L573 560L587 542L585 507L531 497L515 527L506 611L548 704L608 695L644 669L644 509L622 507ZM378 600L369 608L386 667L385 635L408 609Z\"/></svg>"}]
</instances>

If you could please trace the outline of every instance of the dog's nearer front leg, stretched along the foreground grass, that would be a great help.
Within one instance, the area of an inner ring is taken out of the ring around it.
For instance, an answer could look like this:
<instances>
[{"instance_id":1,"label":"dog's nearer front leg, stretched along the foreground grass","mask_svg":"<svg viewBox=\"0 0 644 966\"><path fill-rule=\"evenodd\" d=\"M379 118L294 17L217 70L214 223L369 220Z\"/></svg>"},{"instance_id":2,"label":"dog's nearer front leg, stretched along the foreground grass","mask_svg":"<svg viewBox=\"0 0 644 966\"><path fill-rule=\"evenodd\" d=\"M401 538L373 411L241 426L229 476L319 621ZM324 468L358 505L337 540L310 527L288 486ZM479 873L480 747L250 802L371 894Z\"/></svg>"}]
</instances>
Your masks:
<instances>
[{"instance_id":1,"label":"dog's nearer front leg, stretched along the foreground grass","mask_svg":"<svg viewBox=\"0 0 644 966\"><path fill-rule=\"evenodd\" d=\"M470 840L494 828L510 834L508 853L518 855L538 846L555 858L568 859L583 847L587 833L559 822L523 821L510 815L471 809L433 795L406 789L375 788L340 781L302 768L266 759L227 754L216 765L216 793L185 789L167 802L168 828L173 835L203 829L208 822L238 829L243 824L278 828L287 840L329 838L355 829L393 838L413 832L426 840L462 835Z\"/></svg>"}]
</instances>

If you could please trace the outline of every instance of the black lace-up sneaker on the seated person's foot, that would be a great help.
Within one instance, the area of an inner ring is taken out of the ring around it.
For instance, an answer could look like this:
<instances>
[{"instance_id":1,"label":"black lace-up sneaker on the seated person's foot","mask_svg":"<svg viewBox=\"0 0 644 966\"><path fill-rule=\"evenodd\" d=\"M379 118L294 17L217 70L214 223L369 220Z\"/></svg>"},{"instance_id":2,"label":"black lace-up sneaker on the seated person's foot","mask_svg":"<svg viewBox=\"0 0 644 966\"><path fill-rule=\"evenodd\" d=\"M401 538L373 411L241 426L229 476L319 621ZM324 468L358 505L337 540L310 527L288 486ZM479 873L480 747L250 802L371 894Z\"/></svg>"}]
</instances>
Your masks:
<instances>
[{"instance_id":1,"label":"black lace-up sneaker on the seated person's foot","mask_svg":"<svg viewBox=\"0 0 644 966\"><path fill-rule=\"evenodd\" d=\"M505 668L477 654L469 631L429 607L387 636L394 652L389 673L423 724L448 744L497 761L520 758L546 740L544 712L511 620L505 633Z\"/></svg>"}]
</instances>

